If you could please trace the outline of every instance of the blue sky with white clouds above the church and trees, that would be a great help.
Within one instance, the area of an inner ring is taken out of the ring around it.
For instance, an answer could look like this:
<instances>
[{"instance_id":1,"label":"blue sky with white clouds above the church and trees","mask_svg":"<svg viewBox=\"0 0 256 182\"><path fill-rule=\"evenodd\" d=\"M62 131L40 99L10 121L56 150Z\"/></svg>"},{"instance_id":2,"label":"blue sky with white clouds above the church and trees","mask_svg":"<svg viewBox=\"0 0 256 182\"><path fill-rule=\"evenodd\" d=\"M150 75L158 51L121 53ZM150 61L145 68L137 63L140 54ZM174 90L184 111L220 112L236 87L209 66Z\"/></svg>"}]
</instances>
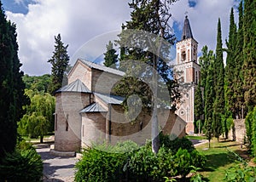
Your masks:
<instances>
[{"instance_id":1,"label":"blue sky with white clouds above the church and trees","mask_svg":"<svg viewBox=\"0 0 256 182\"><path fill-rule=\"evenodd\" d=\"M181 37L185 12L188 12L193 36L199 43L215 49L218 17L221 19L223 44L227 38L230 9L239 0L179 0L172 5L172 26ZM50 73L54 37L61 33L68 54L76 55L83 45L82 58L94 61L105 52L113 32L130 20L127 1L122 0L2 0L7 17L15 22L20 46L21 69L29 75ZM237 12L235 14L237 20ZM109 37L109 38L108 38ZM97 41L97 43L95 43ZM225 46L225 44L224 44Z\"/></svg>"}]
</instances>

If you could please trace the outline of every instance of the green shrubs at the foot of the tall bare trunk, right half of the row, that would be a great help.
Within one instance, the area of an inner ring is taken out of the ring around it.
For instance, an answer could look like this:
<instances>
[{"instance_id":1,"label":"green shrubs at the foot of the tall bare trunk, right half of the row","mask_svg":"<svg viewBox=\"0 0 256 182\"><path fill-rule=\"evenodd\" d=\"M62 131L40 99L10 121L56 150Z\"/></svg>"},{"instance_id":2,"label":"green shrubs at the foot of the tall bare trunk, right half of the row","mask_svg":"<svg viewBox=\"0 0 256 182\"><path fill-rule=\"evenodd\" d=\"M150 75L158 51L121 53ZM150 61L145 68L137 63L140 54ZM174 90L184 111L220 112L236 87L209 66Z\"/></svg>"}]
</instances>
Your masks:
<instances>
[{"instance_id":1,"label":"green shrubs at the foot of the tall bare trunk, right half of the row","mask_svg":"<svg viewBox=\"0 0 256 182\"><path fill-rule=\"evenodd\" d=\"M189 174L192 167L201 168L206 162L206 157L198 151L189 152L180 148L176 154L165 146L154 154L149 145L143 146L133 153L129 163L129 171L134 179L143 181L162 181L165 177L174 177Z\"/></svg>"}]
</instances>

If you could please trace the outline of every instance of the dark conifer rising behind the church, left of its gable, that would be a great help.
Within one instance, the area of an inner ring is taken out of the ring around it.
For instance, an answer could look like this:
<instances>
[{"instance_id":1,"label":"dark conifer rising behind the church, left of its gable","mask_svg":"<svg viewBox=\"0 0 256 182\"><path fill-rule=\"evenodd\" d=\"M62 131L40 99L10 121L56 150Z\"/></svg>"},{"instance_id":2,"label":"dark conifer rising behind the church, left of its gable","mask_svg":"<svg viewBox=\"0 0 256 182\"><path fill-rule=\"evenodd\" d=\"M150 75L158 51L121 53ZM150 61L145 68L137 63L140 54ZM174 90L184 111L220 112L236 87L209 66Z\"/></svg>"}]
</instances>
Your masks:
<instances>
[{"instance_id":1,"label":"dark conifer rising behind the church, left of its gable","mask_svg":"<svg viewBox=\"0 0 256 182\"><path fill-rule=\"evenodd\" d=\"M64 46L61 41L61 34L55 37L55 51L48 62L52 65L51 76L52 80L49 86L49 93L53 94L55 90L67 84L66 70L69 62L67 54L68 45Z\"/></svg>"}]
</instances>

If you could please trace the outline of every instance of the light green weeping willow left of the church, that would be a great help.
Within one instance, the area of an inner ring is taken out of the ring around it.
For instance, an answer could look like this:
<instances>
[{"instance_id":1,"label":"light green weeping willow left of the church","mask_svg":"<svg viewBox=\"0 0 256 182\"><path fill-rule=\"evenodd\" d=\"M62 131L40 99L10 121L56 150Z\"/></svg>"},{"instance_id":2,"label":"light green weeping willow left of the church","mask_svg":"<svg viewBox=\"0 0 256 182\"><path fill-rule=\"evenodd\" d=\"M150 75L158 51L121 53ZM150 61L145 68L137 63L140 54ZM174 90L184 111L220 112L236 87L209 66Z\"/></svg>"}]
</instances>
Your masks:
<instances>
[{"instance_id":1,"label":"light green weeping willow left of the church","mask_svg":"<svg viewBox=\"0 0 256 182\"><path fill-rule=\"evenodd\" d=\"M54 122L55 97L27 89L26 95L29 96L31 104L26 105L26 114L19 122L18 131L22 135L28 134L31 138L39 136L40 142L43 143L44 135L50 131Z\"/></svg>"}]
</instances>

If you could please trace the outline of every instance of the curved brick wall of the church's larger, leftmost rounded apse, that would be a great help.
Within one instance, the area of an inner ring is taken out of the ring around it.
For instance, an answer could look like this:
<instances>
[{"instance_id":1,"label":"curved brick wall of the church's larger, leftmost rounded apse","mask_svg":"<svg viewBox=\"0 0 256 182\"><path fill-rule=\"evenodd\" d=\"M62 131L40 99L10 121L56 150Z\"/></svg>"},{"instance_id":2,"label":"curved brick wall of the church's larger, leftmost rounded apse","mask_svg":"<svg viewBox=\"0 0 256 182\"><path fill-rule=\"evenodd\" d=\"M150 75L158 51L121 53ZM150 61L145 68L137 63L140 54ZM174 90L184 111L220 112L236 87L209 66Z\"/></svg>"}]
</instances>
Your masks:
<instances>
[{"instance_id":1,"label":"curved brick wall of the church's larger, leftmost rounded apse","mask_svg":"<svg viewBox=\"0 0 256 182\"><path fill-rule=\"evenodd\" d=\"M61 93L55 97L55 151L78 151L81 145L79 111L90 104L90 94Z\"/></svg>"}]
</instances>

